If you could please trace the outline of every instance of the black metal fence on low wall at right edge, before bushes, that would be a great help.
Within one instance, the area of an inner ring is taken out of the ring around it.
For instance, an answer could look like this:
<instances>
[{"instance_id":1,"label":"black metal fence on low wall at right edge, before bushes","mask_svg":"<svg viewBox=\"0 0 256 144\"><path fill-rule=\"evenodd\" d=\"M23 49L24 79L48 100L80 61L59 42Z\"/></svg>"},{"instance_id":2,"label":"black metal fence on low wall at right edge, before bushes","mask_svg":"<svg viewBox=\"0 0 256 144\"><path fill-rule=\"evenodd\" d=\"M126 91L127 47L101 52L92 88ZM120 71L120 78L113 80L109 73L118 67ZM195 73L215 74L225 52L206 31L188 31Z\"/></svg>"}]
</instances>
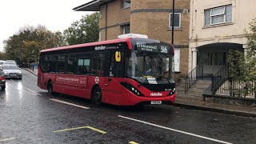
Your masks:
<instances>
[{"instance_id":1,"label":"black metal fence on low wall at right edge, before bushes","mask_svg":"<svg viewBox=\"0 0 256 144\"><path fill-rule=\"evenodd\" d=\"M229 95L231 97L256 98L256 80L238 80L228 78L222 83L215 94Z\"/></svg>"}]
</instances>

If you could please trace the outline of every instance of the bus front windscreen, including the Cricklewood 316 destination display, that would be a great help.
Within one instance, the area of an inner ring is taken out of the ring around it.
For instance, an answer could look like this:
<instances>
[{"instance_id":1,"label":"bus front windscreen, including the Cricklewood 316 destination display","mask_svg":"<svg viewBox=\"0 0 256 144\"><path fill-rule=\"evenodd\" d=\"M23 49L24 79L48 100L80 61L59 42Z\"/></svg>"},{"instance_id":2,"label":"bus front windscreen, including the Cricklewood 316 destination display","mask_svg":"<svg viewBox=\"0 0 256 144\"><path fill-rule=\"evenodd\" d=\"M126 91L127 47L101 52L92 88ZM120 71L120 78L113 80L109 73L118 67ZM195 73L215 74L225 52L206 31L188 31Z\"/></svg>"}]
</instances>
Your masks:
<instances>
[{"instance_id":1,"label":"bus front windscreen, including the Cricklewood 316 destination display","mask_svg":"<svg viewBox=\"0 0 256 144\"><path fill-rule=\"evenodd\" d=\"M170 45L159 41L134 42L127 64L127 76L150 84L174 83L173 52ZM157 79L157 81L155 81Z\"/></svg>"}]
</instances>

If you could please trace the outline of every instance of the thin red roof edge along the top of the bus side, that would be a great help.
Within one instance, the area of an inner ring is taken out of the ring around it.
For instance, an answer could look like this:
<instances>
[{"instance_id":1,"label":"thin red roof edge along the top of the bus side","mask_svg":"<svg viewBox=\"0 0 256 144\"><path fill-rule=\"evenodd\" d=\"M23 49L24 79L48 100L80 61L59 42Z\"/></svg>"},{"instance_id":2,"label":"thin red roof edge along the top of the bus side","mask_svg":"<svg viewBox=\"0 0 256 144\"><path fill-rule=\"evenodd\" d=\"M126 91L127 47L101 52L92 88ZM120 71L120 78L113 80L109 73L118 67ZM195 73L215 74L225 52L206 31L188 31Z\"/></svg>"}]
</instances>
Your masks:
<instances>
[{"instance_id":1,"label":"thin red roof edge along the top of the bus side","mask_svg":"<svg viewBox=\"0 0 256 144\"><path fill-rule=\"evenodd\" d=\"M55 51L55 50L82 48L82 47L86 47L86 46L107 45L107 44L113 44L113 43L118 43L118 42L127 42L128 46L129 46L129 50L131 50L130 38L120 38L120 39L100 41L100 42L83 43L83 44L72 45L72 46L62 46L62 47L50 48L50 49L46 49L46 50L41 50L41 52L44 53L44 52Z\"/></svg>"}]
</instances>

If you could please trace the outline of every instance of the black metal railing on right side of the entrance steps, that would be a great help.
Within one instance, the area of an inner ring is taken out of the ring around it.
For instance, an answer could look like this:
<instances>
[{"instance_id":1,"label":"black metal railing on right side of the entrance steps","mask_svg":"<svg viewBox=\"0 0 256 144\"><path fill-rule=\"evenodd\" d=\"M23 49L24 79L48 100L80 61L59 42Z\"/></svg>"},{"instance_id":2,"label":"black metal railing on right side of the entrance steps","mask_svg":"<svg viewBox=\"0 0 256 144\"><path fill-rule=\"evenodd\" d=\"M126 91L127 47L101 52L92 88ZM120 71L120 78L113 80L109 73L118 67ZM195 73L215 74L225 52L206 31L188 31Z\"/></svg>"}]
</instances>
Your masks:
<instances>
[{"instance_id":1,"label":"black metal railing on right side of the entrance steps","mask_svg":"<svg viewBox=\"0 0 256 144\"><path fill-rule=\"evenodd\" d=\"M218 90L220 86L222 86L223 82L225 82L229 78L228 74L228 63L226 63L216 74L214 74L211 79L211 91L212 94Z\"/></svg>"}]
</instances>

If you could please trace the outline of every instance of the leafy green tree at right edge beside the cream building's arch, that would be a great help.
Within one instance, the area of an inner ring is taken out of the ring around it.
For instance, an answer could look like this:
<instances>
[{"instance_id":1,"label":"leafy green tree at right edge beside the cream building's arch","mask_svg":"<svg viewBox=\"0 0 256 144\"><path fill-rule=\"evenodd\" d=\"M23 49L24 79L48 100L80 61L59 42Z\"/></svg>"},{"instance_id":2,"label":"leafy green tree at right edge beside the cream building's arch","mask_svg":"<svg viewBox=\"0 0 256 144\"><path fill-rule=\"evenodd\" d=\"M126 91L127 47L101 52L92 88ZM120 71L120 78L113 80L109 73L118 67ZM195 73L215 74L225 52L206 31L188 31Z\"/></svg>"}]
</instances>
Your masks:
<instances>
[{"instance_id":1,"label":"leafy green tree at right edge beside the cream building's arch","mask_svg":"<svg viewBox=\"0 0 256 144\"><path fill-rule=\"evenodd\" d=\"M236 89L231 89L230 93L238 96L254 94L256 98L256 18L249 25L250 30L245 30L247 38L245 53L231 50L227 58L229 74L233 80L230 82L234 82L230 86L237 86Z\"/></svg>"}]
</instances>

